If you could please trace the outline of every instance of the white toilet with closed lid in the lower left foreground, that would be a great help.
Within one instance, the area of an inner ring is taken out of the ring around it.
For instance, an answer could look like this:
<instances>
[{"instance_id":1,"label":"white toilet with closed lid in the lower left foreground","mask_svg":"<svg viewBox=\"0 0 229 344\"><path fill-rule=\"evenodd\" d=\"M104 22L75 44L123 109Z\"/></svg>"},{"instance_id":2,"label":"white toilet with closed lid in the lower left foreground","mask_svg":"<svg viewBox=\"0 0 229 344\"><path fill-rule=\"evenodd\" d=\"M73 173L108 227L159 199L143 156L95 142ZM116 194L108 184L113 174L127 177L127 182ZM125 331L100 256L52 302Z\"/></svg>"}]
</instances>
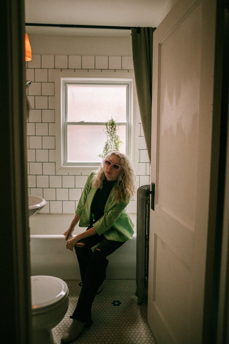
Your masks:
<instances>
[{"instance_id":1,"label":"white toilet with closed lid in the lower left foreground","mask_svg":"<svg viewBox=\"0 0 229 344\"><path fill-rule=\"evenodd\" d=\"M32 344L54 344L52 329L69 304L67 284L58 277L31 276Z\"/></svg>"}]
</instances>

